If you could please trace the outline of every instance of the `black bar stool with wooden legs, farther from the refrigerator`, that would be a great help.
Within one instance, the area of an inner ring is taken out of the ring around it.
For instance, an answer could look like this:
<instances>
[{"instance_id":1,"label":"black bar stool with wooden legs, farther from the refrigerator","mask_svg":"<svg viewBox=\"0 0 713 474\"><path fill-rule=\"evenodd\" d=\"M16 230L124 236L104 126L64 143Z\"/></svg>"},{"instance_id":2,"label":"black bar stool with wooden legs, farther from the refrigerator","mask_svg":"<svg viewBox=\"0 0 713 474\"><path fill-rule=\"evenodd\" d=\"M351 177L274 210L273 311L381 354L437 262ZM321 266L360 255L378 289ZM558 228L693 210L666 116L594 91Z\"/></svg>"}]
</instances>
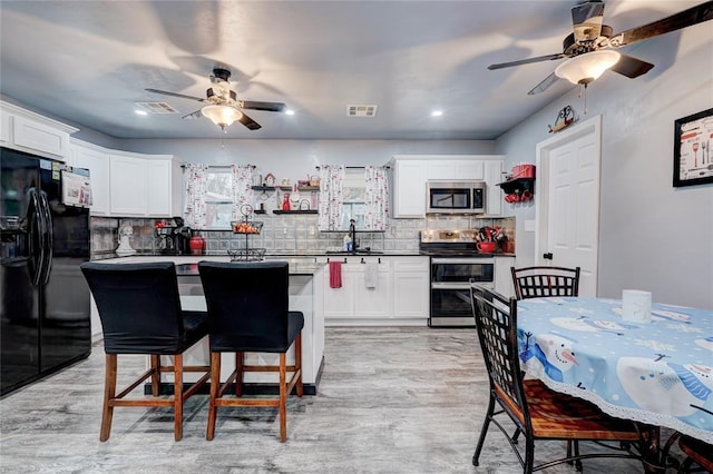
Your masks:
<instances>
[{"instance_id":1,"label":"black bar stool with wooden legs, farther from the refrigerator","mask_svg":"<svg viewBox=\"0 0 713 474\"><path fill-rule=\"evenodd\" d=\"M261 406L280 409L280 441L287 438L287 396L302 397L302 327L304 316L289 310L289 264L198 263L208 308L211 402L206 438L213 440L217 408ZM294 347L294 364L287 350ZM221 386L221 355L235 353L235 369ZM245 364L245 353L277 354L279 364ZM279 397L242 397L246 372L279 373ZM287 379L287 373L291 373ZM226 393L234 383L235 396Z\"/></svg>"}]
</instances>

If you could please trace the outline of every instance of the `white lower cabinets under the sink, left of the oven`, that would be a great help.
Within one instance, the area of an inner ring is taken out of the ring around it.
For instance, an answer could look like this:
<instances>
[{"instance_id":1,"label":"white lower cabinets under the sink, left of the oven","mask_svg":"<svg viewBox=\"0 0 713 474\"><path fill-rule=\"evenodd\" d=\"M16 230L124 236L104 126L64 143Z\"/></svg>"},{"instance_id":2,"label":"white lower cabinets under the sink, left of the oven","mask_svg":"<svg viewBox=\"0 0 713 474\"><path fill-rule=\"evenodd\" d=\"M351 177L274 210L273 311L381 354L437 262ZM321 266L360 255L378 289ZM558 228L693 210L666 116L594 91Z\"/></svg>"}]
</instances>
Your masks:
<instances>
[{"instance_id":1,"label":"white lower cabinets under the sink, left of the oven","mask_svg":"<svg viewBox=\"0 0 713 474\"><path fill-rule=\"evenodd\" d=\"M328 326L426 326L429 315L428 257L335 256L342 287L324 278ZM326 263L326 257L320 258ZM367 266L377 266L373 287L367 287ZM329 269L326 270L329 274Z\"/></svg>"}]
</instances>

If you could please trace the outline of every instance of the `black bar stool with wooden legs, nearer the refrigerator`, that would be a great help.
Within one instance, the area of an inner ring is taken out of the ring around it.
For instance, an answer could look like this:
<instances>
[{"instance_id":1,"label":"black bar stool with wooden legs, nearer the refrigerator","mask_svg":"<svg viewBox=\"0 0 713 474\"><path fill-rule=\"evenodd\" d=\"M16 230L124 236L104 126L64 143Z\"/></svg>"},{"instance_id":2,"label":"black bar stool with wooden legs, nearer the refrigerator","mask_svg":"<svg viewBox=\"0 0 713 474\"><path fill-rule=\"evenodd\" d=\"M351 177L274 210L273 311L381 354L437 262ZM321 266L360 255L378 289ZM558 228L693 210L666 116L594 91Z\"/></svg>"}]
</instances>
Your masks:
<instances>
[{"instance_id":1,"label":"black bar stool with wooden legs, nearer the refrigerator","mask_svg":"<svg viewBox=\"0 0 713 474\"><path fill-rule=\"evenodd\" d=\"M101 264L89 261L81 271L99 310L106 353L104 409L100 441L111 432L115 406L173 407L174 438L183 437L183 406L208 381L208 366L184 366L183 353L208 334L205 312L180 308L176 267L172 261L146 264ZM118 355L145 354L150 367L116 394ZM173 365L160 364L172 356ZM184 372L204 373L185 388ZM173 373L174 393L159 396L162 374ZM152 379L150 397L131 392Z\"/></svg>"}]
</instances>

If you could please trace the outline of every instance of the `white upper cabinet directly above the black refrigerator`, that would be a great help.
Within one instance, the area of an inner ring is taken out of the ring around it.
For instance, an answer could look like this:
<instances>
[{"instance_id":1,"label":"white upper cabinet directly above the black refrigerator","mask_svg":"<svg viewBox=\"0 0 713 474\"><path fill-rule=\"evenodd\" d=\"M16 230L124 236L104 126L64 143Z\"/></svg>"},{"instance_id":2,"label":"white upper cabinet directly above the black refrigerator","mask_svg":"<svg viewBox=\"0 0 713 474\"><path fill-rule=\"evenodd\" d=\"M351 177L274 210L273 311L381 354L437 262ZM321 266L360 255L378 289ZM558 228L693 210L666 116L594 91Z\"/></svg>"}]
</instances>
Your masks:
<instances>
[{"instance_id":1,"label":"white upper cabinet directly above the black refrigerator","mask_svg":"<svg viewBox=\"0 0 713 474\"><path fill-rule=\"evenodd\" d=\"M69 158L69 135L78 129L0 101L2 145L66 160Z\"/></svg>"}]
</instances>

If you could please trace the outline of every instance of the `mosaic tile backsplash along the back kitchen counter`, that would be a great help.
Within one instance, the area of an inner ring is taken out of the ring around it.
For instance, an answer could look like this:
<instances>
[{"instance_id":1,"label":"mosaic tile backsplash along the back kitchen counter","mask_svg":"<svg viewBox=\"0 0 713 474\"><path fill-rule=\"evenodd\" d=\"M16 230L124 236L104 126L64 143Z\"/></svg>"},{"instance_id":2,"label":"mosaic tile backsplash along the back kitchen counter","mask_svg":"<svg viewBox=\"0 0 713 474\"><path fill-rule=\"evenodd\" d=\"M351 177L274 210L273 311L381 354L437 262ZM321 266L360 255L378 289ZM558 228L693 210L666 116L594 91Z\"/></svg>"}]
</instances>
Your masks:
<instances>
[{"instance_id":1,"label":"mosaic tile backsplash along the back kitchen counter","mask_svg":"<svg viewBox=\"0 0 713 474\"><path fill-rule=\"evenodd\" d=\"M91 218L91 258L114 258L118 247L118 229L131 226L134 235L130 246L145 254L159 253L160 244L154 224L147 218ZM194 230L206 240L209 254L223 254L228 249L265 248L267 254L319 253L339 250L343 247L345 231L320 233L318 216L310 215L258 215L255 220L263 223L258 235L237 235L229 230ZM418 250L419 231L426 229L471 229L484 226L500 226L508 241L515 243L515 218L473 218L468 216L429 216L424 219L389 219L383 233L361 233L356 238L361 248L372 250ZM514 245L508 248L515 251Z\"/></svg>"}]
</instances>

